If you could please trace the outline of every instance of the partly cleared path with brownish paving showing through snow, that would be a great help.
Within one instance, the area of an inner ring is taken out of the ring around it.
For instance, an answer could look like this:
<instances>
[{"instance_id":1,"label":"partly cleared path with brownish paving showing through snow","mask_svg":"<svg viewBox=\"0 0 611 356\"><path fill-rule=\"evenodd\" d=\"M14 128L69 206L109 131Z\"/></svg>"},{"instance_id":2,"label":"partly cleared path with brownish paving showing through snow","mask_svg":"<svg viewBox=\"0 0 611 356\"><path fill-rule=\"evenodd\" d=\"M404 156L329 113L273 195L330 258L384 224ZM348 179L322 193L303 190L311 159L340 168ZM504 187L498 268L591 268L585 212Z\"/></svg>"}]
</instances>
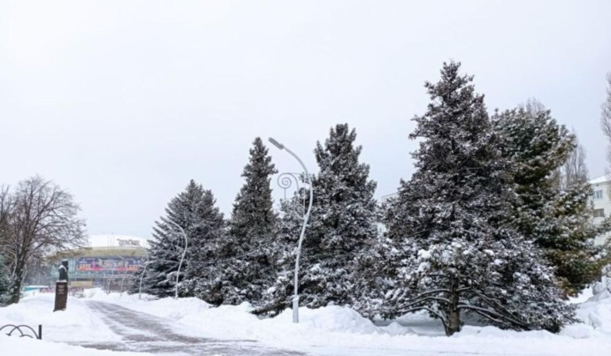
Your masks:
<instances>
[{"instance_id":1,"label":"partly cleared path with brownish paving showing through snow","mask_svg":"<svg viewBox=\"0 0 611 356\"><path fill-rule=\"evenodd\" d=\"M257 341L197 338L177 333L172 320L134 311L108 302L86 302L121 341L72 343L94 349L150 352L163 355L304 355L300 352L272 349Z\"/></svg>"}]
</instances>

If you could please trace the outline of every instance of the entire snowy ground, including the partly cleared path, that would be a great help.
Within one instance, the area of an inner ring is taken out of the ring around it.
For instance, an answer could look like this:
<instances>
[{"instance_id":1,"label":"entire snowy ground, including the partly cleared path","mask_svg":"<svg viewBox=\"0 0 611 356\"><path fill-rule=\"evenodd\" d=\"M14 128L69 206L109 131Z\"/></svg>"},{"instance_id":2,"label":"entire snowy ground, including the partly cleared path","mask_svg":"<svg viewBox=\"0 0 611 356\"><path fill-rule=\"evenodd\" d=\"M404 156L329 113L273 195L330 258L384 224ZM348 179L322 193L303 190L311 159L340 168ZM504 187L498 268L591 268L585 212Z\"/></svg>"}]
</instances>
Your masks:
<instances>
[{"instance_id":1,"label":"entire snowy ground, including the partly cleared path","mask_svg":"<svg viewBox=\"0 0 611 356\"><path fill-rule=\"evenodd\" d=\"M301 323L295 325L290 310L260 320L248 313L246 304L209 308L197 299L138 300L137 295L100 290L89 291L84 299L71 298L66 311L51 310L52 295L26 297L19 305L0 308L0 324L42 324L44 339L0 336L0 355L590 356L611 350L611 294L604 288L580 303L585 324L571 325L560 335L466 326L447 338L436 321L423 315L379 326L339 306L302 308Z\"/></svg>"}]
</instances>

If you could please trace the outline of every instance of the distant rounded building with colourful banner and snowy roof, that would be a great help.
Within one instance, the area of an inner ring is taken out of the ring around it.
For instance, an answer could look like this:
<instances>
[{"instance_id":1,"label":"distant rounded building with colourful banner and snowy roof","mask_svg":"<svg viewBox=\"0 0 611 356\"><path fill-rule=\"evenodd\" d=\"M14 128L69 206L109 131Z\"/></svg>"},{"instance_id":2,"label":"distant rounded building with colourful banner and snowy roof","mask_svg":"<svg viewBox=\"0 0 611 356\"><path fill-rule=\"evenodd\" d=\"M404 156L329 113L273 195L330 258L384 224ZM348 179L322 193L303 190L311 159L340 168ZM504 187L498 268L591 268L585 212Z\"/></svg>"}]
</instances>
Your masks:
<instances>
[{"instance_id":1,"label":"distant rounded building with colourful banner and snowy roof","mask_svg":"<svg viewBox=\"0 0 611 356\"><path fill-rule=\"evenodd\" d=\"M51 280L59 277L57 266L67 259L70 286L126 290L147 260L147 241L139 237L95 235L90 237L90 245L56 254Z\"/></svg>"}]
</instances>

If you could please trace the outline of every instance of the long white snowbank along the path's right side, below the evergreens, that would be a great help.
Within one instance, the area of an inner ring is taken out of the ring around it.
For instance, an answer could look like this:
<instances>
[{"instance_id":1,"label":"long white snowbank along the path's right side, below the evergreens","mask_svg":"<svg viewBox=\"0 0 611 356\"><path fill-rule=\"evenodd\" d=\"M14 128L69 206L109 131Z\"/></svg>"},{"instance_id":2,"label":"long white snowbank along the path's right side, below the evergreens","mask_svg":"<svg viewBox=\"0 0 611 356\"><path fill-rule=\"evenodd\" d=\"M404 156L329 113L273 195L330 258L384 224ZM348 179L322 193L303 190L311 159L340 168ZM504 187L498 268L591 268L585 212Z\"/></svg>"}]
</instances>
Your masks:
<instances>
[{"instance_id":1,"label":"long white snowbank along the path's right side, below the evergreens","mask_svg":"<svg viewBox=\"0 0 611 356\"><path fill-rule=\"evenodd\" d=\"M595 297L600 300L593 300ZM605 314L608 308L605 305L611 303L611 298L601 294L595 297L579 306L580 313L591 313L591 318L598 316L606 320L601 325L608 325L605 323L611 323L611 316ZM512 355L580 355L588 350L588 355L607 355L611 348L611 337L604 329L591 324L569 325L560 335L467 325L462 332L447 338L442 336L439 322L426 314L409 314L381 326L342 306L299 308L299 324L293 324L291 310L274 318L259 319L249 313L252 306L248 303L213 308L197 299L142 301L137 300L137 295L119 297L117 294L101 298L134 310L178 319L180 324L175 328L188 335L253 339L268 346L315 355L403 355L406 350L415 354L450 355L489 354L492 350Z\"/></svg>"}]
</instances>

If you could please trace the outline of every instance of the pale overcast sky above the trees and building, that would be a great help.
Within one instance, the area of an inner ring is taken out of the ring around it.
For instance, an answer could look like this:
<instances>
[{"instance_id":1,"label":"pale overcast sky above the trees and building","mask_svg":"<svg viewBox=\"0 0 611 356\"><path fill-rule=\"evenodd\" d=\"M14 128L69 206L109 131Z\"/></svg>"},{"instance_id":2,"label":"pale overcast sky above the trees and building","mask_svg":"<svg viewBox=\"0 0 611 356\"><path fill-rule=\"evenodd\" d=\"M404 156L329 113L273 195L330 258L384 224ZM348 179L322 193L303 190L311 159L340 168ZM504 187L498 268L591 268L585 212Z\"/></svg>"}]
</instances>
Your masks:
<instances>
[{"instance_id":1,"label":"pale overcast sky above the trees and building","mask_svg":"<svg viewBox=\"0 0 611 356\"><path fill-rule=\"evenodd\" d=\"M610 13L609 0L0 0L0 184L41 174L91 234L147 237L191 178L229 214L255 136L315 171L316 140L348 122L379 197L414 170L410 119L448 59L490 111L538 98L596 177Z\"/></svg>"}]
</instances>

